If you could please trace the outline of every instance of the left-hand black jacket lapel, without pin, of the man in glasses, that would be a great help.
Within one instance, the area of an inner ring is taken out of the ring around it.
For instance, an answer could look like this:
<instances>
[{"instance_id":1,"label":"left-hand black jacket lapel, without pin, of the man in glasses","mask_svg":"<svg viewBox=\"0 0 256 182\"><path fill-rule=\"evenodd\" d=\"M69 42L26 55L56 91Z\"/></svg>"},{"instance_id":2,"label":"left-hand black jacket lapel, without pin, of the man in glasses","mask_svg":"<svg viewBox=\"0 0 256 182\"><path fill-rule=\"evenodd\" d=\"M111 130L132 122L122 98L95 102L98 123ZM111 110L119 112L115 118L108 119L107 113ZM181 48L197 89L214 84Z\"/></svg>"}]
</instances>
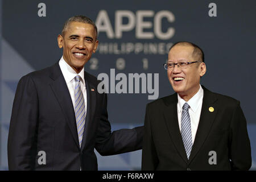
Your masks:
<instances>
[{"instance_id":1,"label":"left-hand black jacket lapel, without pin, of the man in glasses","mask_svg":"<svg viewBox=\"0 0 256 182\"><path fill-rule=\"evenodd\" d=\"M179 123L177 119L177 94L173 94L166 100L164 108L164 119L169 131L172 142L174 143L177 152L185 163L188 163L187 154L180 134Z\"/></svg>"}]
</instances>

